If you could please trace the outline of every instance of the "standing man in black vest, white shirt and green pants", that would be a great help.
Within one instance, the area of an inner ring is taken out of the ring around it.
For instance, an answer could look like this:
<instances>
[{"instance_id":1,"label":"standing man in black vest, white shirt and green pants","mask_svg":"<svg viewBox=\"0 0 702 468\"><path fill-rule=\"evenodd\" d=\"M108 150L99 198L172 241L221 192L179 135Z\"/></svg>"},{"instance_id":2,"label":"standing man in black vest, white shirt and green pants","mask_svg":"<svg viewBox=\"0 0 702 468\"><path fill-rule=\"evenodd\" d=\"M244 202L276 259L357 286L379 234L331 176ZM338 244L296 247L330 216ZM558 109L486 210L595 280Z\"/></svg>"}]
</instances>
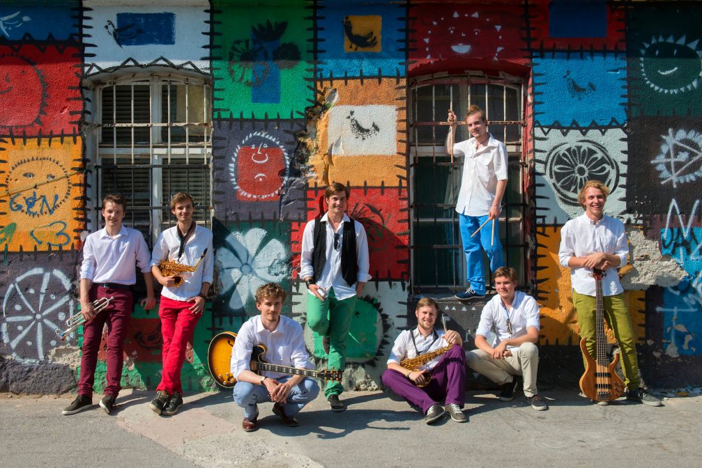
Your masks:
<instances>
[{"instance_id":1,"label":"standing man in black vest, white shirt and green pants","mask_svg":"<svg viewBox=\"0 0 702 468\"><path fill-rule=\"evenodd\" d=\"M307 325L329 337L329 368L343 370L356 300L371 279L363 225L345 213L349 190L333 182L324 193L329 210L303 232L300 278L307 283ZM326 342L326 340L325 340ZM327 382L324 396L332 411L343 411L341 382Z\"/></svg>"}]
</instances>

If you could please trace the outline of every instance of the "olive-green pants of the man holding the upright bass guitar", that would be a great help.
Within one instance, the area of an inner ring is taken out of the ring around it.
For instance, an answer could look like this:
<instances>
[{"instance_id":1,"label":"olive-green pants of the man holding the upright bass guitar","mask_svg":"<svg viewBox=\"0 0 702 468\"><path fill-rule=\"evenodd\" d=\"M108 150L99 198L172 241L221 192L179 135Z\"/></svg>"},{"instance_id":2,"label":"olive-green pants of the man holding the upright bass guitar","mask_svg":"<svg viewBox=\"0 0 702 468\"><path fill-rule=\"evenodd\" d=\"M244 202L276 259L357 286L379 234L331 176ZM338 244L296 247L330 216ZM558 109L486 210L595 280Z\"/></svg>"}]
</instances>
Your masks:
<instances>
[{"instance_id":1,"label":"olive-green pants of the man holding the upright bass guitar","mask_svg":"<svg viewBox=\"0 0 702 468\"><path fill-rule=\"evenodd\" d=\"M607 321L609 328L612 329L614 337L619 343L621 366L624 371L624 385L630 390L637 389L641 385L641 377L636 357L636 337L634 335L634 327L631 324L629 309L626 307L624 300L624 293L604 296L602 299L604 320ZM580 335L585 338L585 345L592 359L597 359L595 345L597 304L595 297L578 294L573 291L573 305L578 312ZM585 362L584 356L583 362Z\"/></svg>"}]
</instances>

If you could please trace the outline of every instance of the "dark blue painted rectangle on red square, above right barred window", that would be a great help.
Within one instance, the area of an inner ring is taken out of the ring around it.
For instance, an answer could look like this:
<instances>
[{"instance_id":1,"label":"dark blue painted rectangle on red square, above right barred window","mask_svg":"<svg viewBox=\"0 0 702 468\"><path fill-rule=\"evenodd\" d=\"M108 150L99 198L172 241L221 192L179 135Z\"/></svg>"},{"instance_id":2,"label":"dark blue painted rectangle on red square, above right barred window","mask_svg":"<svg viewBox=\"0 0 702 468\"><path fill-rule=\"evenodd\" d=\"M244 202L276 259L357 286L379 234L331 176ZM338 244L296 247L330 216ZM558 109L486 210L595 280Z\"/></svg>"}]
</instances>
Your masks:
<instances>
[{"instance_id":1,"label":"dark blue painted rectangle on red square, above right barred window","mask_svg":"<svg viewBox=\"0 0 702 468\"><path fill-rule=\"evenodd\" d=\"M607 4L550 4L551 37L607 37Z\"/></svg>"}]
</instances>

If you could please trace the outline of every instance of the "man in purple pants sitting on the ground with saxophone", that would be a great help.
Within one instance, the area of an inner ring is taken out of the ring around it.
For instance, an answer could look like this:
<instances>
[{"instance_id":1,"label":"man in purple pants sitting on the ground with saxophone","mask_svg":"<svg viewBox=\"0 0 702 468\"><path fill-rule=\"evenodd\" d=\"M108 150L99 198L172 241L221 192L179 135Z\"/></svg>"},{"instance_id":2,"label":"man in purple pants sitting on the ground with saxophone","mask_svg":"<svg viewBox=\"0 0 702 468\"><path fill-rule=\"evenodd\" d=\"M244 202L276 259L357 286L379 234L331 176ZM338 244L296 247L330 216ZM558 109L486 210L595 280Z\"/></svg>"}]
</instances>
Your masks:
<instances>
[{"instance_id":1,"label":"man in purple pants sitting on the ground with saxophone","mask_svg":"<svg viewBox=\"0 0 702 468\"><path fill-rule=\"evenodd\" d=\"M404 330L395 340L383 384L418 408L427 424L446 413L456 422L465 422L465 351L461 335L455 330L434 329L439 305L430 297L417 302L414 314L417 328Z\"/></svg>"}]
</instances>

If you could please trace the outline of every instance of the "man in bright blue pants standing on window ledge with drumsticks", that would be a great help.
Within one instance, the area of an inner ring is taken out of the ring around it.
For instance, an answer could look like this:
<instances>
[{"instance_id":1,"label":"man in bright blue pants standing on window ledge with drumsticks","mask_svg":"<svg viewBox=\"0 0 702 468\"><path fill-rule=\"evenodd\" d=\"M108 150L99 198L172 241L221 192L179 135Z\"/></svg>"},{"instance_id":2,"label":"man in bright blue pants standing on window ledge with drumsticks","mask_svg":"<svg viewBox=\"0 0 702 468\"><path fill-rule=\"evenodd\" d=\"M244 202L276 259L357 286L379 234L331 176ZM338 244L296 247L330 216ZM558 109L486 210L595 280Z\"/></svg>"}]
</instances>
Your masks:
<instances>
[{"instance_id":1,"label":"man in bright blue pants standing on window ledge with drumsticks","mask_svg":"<svg viewBox=\"0 0 702 468\"><path fill-rule=\"evenodd\" d=\"M491 272L505 265L499 217L502 196L507 188L507 148L487 131L485 113L476 105L468 108L468 116L465 117L472 138L454 144L456 114L451 109L449 123L451 130L446 138L446 151L451 156L463 156L463 178L456 212L468 270L466 279L470 283L465 291L456 293L456 299L472 300L485 296L480 247L490 260ZM489 225L473 236L488 220L491 220Z\"/></svg>"}]
</instances>

